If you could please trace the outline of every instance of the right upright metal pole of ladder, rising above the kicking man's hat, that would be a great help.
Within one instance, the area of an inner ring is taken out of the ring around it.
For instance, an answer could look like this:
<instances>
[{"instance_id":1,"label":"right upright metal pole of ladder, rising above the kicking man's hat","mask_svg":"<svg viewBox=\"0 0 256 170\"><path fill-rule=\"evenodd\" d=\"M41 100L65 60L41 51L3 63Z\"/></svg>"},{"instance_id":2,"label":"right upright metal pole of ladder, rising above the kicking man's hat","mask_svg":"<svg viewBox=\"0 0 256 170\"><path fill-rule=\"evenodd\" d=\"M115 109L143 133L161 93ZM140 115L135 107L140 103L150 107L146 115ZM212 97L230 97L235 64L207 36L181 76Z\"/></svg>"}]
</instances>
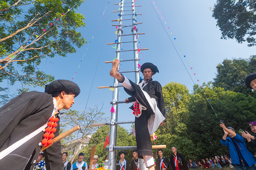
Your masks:
<instances>
[{"instance_id":1,"label":"right upright metal pole of ladder, rising above the kicking man's hat","mask_svg":"<svg viewBox=\"0 0 256 170\"><path fill-rule=\"evenodd\" d=\"M138 43L137 43L137 39L136 39L136 34L137 34L137 29L135 30L134 26L136 25L136 22L135 22L135 7L134 6L134 0L131 0L132 1L132 21L133 21L133 28L132 28L132 32L133 32L133 49L134 49L134 69L136 70L135 72L135 83L136 84L139 84L139 78L140 78L140 75L139 75L139 67L138 67L138 64L139 64L139 53L138 53Z\"/></svg>"}]
</instances>

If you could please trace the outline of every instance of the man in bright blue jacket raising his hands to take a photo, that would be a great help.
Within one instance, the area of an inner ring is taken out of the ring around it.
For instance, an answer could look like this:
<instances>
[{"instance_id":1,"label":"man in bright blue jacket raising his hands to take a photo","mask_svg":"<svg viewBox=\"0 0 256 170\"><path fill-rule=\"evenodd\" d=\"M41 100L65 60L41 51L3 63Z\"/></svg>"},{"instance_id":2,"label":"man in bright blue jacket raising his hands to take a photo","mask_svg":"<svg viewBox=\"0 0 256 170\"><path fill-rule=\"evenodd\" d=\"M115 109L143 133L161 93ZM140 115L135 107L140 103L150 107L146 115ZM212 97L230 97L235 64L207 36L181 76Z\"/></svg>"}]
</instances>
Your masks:
<instances>
[{"instance_id":1,"label":"man in bright blue jacket raising his hands to take a photo","mask_svg":"<svg viewBox=\"0 0 256 170\"><path fill-rule=\"evenodd\" d=\"M220 124L220 127L224 131L220 143L229 147L230 157L236 170L256 170L254 166L256 162L253 155L246 148L244 138L238 135L232 127L226 128L223 123Z\"/></svg>"}]
</instances>

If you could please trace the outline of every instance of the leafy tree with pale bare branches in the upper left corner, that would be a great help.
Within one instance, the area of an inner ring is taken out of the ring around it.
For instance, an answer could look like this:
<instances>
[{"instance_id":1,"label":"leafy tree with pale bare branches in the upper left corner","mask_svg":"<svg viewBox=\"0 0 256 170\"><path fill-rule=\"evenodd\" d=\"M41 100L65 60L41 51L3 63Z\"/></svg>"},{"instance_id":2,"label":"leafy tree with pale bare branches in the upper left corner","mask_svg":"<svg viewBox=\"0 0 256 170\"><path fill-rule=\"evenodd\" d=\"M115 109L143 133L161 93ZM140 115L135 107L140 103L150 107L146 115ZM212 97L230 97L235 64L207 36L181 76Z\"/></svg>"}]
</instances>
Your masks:
<instances>
[{"instance_id":1,"label":"leafy tree with pale bare branches in the upper left corner","mask_svg":"<svg viewBox=\"0 0 256 170\"><path fill-rule=\"evenodd\" d=\"M84 16L75 11L82 2L0 0L0 82L18 80L35 87L53 81L38 66L43 58L66 57L86 42L76 31L85 26Z\"/></svg>"}]
</instances>

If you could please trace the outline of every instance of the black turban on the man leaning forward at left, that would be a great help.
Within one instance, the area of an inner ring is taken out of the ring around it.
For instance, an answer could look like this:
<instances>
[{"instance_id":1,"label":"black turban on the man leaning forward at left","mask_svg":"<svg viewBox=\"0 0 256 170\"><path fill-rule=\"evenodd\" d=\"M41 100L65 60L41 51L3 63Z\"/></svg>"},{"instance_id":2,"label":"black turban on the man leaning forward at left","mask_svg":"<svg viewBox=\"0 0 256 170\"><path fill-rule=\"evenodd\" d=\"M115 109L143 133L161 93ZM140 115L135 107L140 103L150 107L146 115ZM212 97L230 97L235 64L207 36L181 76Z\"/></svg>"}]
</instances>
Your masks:
<instances>
[{"instance_id":1,"label":"black turban on the man leaning forward at left","mask_svg":"<svg viewBox=\"0 0 256 170\"><path fill-rule=\"evenodd\" d=\"M45 93L51 94L54 91L68 91L75 94L75 97L80 93L78 85L69 80L54 80L48 85L45 85Z\"/></svg>"}]
</instances>

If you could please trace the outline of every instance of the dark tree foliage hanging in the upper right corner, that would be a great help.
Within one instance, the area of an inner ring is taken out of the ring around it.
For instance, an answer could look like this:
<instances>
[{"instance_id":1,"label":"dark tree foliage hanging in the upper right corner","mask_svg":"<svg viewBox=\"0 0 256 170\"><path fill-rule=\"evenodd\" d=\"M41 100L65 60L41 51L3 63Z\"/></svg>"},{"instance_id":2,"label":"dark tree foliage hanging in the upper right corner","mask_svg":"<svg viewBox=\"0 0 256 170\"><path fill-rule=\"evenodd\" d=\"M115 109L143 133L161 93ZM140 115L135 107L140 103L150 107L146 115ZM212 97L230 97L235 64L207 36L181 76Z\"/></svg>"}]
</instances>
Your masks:
<instances>
[{"instance_id":1,"label":"dark tree foliage hanging in the upper right corner","mask_svg":"<svg viewBox=\"0 0 256 170\"><path fill-rule=\"evenodd\" d=\"M217 0L213 17L222 33L221 39L235 38L238 43L247 41L248 46L255 46L256 1Z\"/></svg>"}]
</instances>

